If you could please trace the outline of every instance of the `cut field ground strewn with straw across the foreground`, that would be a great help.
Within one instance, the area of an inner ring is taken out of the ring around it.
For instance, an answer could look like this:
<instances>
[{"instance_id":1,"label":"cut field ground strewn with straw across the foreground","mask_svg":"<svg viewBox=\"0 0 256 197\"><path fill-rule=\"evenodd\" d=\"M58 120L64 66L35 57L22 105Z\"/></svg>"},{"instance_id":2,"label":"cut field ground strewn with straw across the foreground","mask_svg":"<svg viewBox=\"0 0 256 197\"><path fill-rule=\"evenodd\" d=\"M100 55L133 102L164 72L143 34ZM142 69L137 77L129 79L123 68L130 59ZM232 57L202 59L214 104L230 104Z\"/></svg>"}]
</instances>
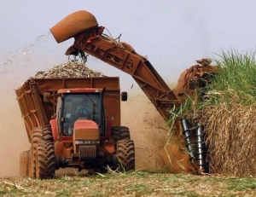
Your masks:
<instances>
[{"instance_id":1,"label":"cut field ground strewn with straw across the foreground","mask_svg":"<svg viewBox=\"0 0 256 197\"><path fill-rule=\"evenodd\" d=\"M253 177L195 176L134 171L52 180L0 178L3 196L255 196Z\"/></svg>"}]
</instances>

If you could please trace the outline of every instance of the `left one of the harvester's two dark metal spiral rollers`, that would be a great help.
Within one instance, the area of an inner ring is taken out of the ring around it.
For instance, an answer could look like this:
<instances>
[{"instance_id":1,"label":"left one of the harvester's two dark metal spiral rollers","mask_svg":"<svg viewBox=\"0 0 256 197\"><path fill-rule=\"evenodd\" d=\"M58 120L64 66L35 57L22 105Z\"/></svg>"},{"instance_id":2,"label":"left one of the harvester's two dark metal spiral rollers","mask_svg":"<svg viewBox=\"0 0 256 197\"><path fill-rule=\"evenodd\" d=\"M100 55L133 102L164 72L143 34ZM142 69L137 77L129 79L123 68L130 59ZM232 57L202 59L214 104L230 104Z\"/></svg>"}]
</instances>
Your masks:
<instances>
[{"instance_id":1,"label":"left one of the harvester's two dark metal spiral rollers","mask_svg":"<svg viewBox=\"0 0 256 197\"><path fill-rule=\"evenodd\" d=\"M186 147L189 151L189 160L195 159L194 148L192 144L191 130L189 129L188 119L180 119L181 125L183 126L183 135L186 141Z\"/></svg>"}]
</instances>

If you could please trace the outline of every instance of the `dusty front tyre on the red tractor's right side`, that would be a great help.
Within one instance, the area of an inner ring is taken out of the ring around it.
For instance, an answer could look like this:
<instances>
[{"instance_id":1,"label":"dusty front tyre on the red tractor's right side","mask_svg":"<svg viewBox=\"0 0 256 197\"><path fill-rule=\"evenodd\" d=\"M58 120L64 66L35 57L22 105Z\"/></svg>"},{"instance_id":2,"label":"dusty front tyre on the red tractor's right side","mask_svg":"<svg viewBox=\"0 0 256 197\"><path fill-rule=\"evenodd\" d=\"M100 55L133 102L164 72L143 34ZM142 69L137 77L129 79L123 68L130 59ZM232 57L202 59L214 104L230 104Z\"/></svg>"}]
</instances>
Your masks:
<instances>
[{"instance_id":1,"label":"dusty front tyre on the red tractor's right side","mask_svg":"<svg viewBox=\"0 0 256 197\"><path fill-rule=\"evenodd\" d=\"M135 148L132 140L119 140L117 142L116 156L120 171L135 170Z\"/></svg>"}]
</instances>

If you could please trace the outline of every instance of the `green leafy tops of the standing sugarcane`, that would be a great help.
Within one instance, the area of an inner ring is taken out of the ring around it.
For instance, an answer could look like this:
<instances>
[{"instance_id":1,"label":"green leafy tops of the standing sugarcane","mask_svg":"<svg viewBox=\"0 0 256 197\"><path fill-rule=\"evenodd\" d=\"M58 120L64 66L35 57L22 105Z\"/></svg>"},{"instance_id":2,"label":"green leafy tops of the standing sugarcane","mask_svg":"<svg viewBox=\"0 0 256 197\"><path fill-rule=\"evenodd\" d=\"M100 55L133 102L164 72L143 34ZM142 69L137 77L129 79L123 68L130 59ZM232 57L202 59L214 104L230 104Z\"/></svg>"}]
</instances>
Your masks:
<instances>
[{"instance_id":1,"label":"green leafy tops of the standing sugarcane","mask_svg":"<svg viewBox=\"0 0 256 197\"><path fill-rule=\"evenodd\" d=\"M242 105L255 103L256 95L256 62L255 52L241 54L236 50L222 52L213 61L219 72L207 85L210 90L210 102L237 101Z\"/></svg>"}]
</instances>

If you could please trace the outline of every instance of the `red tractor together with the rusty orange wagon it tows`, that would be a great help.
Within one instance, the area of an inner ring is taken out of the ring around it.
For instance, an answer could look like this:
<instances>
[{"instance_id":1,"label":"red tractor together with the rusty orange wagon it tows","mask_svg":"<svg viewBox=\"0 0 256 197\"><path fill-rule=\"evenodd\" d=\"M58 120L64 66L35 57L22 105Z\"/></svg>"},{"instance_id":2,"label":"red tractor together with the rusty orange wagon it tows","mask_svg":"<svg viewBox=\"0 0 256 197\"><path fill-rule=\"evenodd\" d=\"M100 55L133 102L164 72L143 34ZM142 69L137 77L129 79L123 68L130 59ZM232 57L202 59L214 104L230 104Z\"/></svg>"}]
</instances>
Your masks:
<instances>
[{"instance_id":1,"label":"red tractor together with the rusty orange wagon it tows","mask_svg":"<svg viewBox=\"0 0 256 197\"><path fill-rule=\"evenodd\" d=\"M120 126L119 78L30 78L15 90L30 150L20 154L20 175L53 178L55 170L130 171L134 142ZM79 108L81 101L87 106Z\"/></svg>"}]
</instances>

